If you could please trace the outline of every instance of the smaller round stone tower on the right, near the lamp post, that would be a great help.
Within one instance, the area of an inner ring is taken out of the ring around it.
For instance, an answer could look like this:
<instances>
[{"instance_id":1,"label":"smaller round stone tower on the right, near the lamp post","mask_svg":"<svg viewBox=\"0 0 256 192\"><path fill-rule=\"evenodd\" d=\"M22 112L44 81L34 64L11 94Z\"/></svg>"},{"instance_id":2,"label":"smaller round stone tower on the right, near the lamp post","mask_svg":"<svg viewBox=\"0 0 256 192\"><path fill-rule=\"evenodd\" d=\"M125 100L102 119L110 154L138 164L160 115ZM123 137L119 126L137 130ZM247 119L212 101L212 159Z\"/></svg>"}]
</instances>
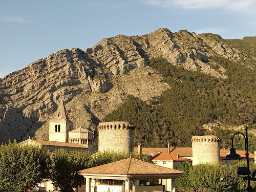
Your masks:
<instances>
[{"instance_id":1,"label":"smaller round stone tower on the right, near the lamp post","mask_svg":"<svg viewBox=\"0 0 256 192\"><path fill-rule=\"evenodd\" d=\"M193 136L193 165L200 163L217 163L220 161L220 141L216 135Z\"/></svg>"}]
</instances>

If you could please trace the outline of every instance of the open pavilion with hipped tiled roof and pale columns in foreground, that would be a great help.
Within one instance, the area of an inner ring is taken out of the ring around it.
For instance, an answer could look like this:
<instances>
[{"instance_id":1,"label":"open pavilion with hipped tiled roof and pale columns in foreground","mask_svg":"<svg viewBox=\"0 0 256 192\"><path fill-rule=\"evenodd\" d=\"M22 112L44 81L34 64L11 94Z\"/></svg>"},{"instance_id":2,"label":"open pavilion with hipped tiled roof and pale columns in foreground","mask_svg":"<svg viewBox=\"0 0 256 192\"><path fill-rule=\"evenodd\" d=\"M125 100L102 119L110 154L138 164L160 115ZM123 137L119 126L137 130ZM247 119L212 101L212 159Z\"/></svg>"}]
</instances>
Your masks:
<instances>
[{"instance_id":1,"label":"open pavilion with hipped tiled roof and pale columns in foreground","mask_svg":"<svg viewBox=\"0 0 256 192\"><path fill-rule=\"evenodd\" d=\"M165 186L159 182L166 179L172 179L172 192L175 192L175 179L184 172L130 157L83 169L79 174L86 178L86 192L93 192L95 188L98 192L160 192L164 191Z\"/></svg>"}]
</instances>

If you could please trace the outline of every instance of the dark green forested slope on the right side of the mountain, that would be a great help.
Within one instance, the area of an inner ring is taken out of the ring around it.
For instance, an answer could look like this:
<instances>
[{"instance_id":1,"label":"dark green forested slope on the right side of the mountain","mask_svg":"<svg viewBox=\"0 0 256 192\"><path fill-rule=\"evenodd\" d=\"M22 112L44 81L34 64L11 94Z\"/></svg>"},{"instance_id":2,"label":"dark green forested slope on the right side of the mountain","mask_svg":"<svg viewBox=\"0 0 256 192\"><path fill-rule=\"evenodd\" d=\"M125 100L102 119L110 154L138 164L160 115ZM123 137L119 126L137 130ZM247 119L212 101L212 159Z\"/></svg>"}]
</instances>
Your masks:
<instances>
[{"instance_id":1,"label":"dark green forested slope on the right side of the mountain","mask_svg":"<svg viewBox=\"0 0 256 192\"><path fill-rule=\"evenodd\" d=\"M202 125L216 121L226 125L247 122L253 129L256 123L256 70L222 57L212 57L205 62L210 65L210 61L224 67L227 78L187 71L163 58L152 59L150 66L162 74L170 89L150 104L129 96L103 121L134 122L137 126L134 143L143 146L161 147L168 142L174 146L191 146L192 135L219 134L222 147L228 147L232 131L216 127L215 132L207 133ZM241 142L239 148L243 148ZM250 144L250 151L256 150L256 145Z\"/></svg>"}]
</instances>

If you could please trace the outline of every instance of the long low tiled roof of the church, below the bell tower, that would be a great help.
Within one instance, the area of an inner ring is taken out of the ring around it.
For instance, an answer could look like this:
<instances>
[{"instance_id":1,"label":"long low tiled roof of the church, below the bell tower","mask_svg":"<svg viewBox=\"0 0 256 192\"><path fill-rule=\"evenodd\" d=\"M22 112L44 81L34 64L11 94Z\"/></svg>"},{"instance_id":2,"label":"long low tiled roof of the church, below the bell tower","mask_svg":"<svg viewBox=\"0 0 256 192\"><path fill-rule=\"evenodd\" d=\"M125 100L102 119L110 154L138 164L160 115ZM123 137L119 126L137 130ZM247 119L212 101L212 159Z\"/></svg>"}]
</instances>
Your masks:
<instances>
[{"instance_id":1,"label":"long low tiled roof of the church, below the bell tower","mask_svg":"<svg viewBox=\"0 0 256 192\"><path fill-rule=\"evenodd\" d=\"M77 143L66 143L66 142L34 140L34 139L27 139L27 140L25 140L23 142L20 142L19 144L25 144L25 143L28 143L29 141L32 142L32 143L35 143L35 144L48 145L48 146L88 148L86 146L79 145Z\"/></svg>"}]
</instances>

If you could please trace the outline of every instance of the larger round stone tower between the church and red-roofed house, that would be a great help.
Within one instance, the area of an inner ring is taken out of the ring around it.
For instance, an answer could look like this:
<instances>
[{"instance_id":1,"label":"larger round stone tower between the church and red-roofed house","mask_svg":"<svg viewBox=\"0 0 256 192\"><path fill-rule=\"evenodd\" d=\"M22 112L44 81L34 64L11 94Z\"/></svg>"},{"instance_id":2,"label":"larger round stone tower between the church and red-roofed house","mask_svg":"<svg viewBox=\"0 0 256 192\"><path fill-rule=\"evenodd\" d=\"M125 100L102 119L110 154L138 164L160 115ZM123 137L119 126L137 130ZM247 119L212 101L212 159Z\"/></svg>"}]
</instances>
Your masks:
<instances>
[{"instance_id":1,"label":"larger round stone tower between the church and red-roofed house","mask_svg":"<svg viewBox=\"0 0 256 192\"><path fill-rule=\"evenodd\" d=\"M131 122L99 123L99 151L132 152L135 126Z\"/></svg>"}]
</instances>

